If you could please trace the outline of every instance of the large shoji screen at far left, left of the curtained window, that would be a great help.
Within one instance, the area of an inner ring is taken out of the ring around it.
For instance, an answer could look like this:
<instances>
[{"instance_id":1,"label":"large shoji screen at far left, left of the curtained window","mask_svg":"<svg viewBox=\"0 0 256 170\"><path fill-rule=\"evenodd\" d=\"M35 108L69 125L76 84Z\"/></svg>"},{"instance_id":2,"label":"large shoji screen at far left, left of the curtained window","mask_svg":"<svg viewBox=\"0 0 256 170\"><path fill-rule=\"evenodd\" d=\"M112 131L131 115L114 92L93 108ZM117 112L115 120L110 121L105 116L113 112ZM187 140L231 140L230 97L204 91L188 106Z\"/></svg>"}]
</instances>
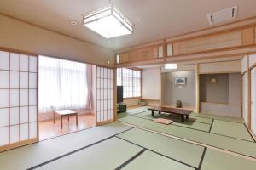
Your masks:
<instances>
[{"instance_id":1,"label":"large shoji screen at far left, left of the curtained window","mask_svg":"<svg viewBox=\"0 0 256 170\"><path fill-rule=\"evenodd\" d=\"M0 51L0 151L38 141L38 57Z\"/></svg>"}]
</instances>

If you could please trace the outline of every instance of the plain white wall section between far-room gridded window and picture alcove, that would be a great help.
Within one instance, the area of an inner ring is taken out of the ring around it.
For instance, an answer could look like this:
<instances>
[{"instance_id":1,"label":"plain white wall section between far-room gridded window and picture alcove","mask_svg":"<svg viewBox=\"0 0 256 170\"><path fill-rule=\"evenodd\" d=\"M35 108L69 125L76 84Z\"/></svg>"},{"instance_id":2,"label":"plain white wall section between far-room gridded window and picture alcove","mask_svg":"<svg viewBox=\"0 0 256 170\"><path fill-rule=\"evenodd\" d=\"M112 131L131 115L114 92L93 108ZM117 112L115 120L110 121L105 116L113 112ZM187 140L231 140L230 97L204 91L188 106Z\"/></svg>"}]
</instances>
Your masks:
<instances>
[{"instance_id":1,"label":"plain white wall section between far-room gridded window and picture alcove","mask_svg":"<svg viewBox=\"0 0 256 170\"><path fill-rule=\"evenodd\" d=\"M160 68L143 69L142 98L160 99Z\"/></svg>"}]
</instances>

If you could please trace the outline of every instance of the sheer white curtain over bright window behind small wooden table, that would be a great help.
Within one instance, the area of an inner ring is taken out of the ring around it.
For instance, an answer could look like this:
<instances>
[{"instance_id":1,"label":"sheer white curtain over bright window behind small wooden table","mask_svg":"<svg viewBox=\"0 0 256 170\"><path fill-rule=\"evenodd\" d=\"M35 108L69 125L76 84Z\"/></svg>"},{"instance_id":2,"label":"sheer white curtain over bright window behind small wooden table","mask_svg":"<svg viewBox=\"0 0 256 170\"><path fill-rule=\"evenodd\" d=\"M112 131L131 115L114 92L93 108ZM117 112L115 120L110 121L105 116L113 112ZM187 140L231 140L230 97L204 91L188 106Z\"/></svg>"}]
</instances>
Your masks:
<instances>
[{"instance_id":1,"label":"sheer white curtain over bright window behind small wooden table","mask_svg":"<svg viewBox=\"0 0 256 170\"><path fill-rule=\"evenodd\" d=\"M90 109L88 66L64 59L39 57L39 111Z\"/></svg>"}]
</instances>

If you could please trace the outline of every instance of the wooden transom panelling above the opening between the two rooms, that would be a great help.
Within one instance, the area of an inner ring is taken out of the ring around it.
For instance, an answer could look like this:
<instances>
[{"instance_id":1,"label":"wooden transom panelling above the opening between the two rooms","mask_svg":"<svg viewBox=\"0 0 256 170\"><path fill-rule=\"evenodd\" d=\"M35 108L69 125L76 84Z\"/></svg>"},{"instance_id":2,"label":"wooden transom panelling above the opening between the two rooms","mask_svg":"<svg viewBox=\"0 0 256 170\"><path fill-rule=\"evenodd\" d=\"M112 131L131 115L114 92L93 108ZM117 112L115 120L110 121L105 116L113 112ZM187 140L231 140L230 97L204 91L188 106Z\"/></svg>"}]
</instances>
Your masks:
<instances>
[{"instance_id":1,"label":"wooden transom panelling above the opening between the two rooms","mask_svg":"<svg viewBox=\"0 0 256 170\"><path fill-rule=\"evenodd\" d=\"M163 46L164 49L168 49L168 45L170 46L170 44L172 44L172 50L169 49L169 51L172 51L172 54L170 52L169 54L164 53L164 62L254 54L256 48L255 35L256 29L255 25L253 25L201 34L197 37L164 39L161 44L150 45L148 43L148 46L137 46L119 51L118 54L121 59L118 65L137 64L137 62L147 64L148 61L156 64L160 59L158 56L158 47ZM218 56L216 53L218 53Z\"/></svg>"}]
</instances>

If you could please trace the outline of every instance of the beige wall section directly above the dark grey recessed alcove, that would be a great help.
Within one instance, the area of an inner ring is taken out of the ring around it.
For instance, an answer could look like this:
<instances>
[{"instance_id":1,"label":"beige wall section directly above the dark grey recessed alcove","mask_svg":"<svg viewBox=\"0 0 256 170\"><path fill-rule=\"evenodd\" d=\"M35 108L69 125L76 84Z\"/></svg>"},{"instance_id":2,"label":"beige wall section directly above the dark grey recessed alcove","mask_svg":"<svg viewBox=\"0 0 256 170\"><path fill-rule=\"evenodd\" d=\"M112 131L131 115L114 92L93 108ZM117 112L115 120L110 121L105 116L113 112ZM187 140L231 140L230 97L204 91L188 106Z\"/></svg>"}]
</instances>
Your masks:
<instances>
[{"instance_id":1,"label":"beige wall section directly above the dark grey recessed alcove","mask_svg":"<svg viewBox=\"0 0 256 170\"><path fill-rule=\"evenodd\" d=\"M241 72L241 61L205 63L199 65L200 74Z\"/></svg>"}]
</instances>

